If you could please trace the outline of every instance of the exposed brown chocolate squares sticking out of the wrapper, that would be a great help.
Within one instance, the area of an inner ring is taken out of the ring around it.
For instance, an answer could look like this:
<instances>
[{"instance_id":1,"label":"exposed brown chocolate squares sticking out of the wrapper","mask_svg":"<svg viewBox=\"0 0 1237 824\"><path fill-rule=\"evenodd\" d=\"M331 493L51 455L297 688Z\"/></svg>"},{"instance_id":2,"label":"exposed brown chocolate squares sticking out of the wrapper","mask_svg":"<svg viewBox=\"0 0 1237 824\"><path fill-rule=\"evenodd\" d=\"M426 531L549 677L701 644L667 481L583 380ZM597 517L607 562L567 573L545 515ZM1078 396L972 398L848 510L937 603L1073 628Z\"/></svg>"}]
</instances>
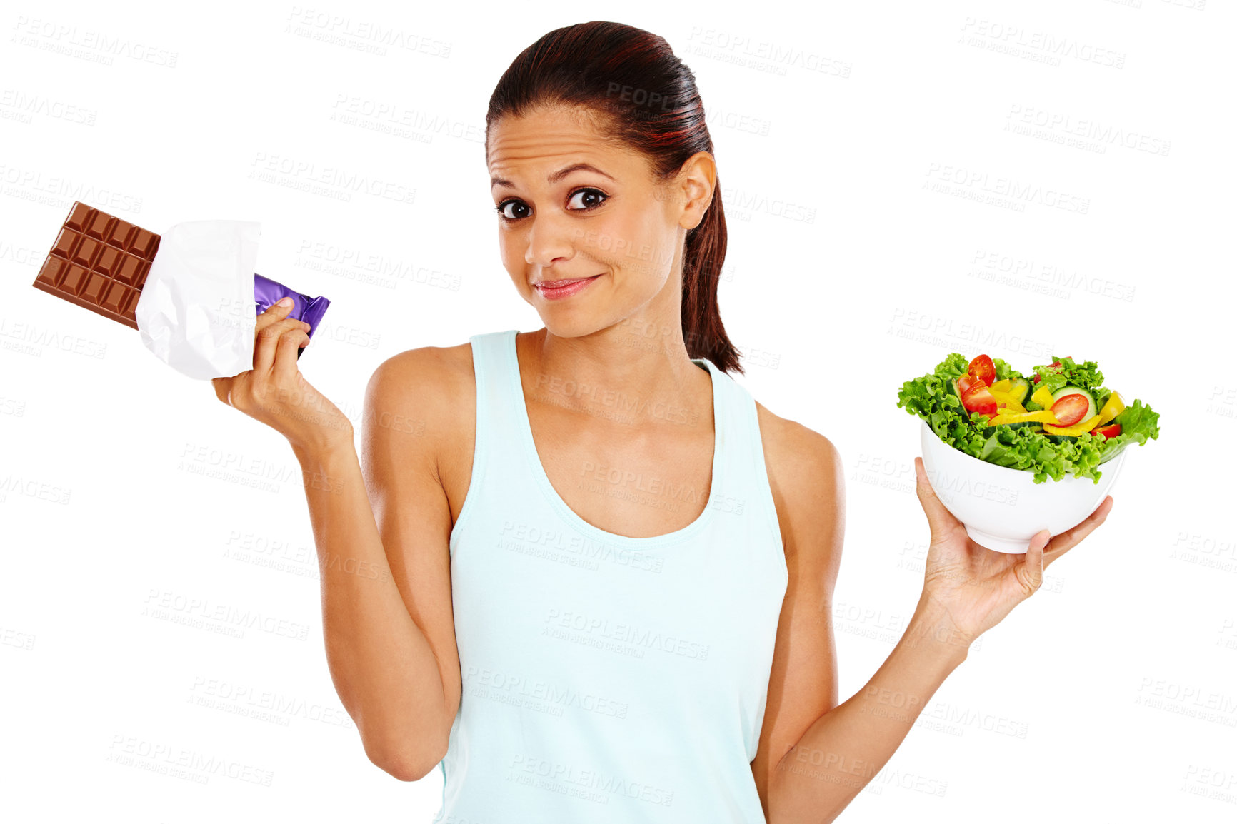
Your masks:
<instances>
[{"instance_id":1,"label":"exposed brown chocolate squares sticking out of the wrapper","mask_svg":"<svg viewBox=\"0 0 1237 824\"><path fill-rule=\"evenodd\" d=\"M35 286L136 329L134 308L158 240L148 229L74 202Z\"/></svg>"}]
</instances>

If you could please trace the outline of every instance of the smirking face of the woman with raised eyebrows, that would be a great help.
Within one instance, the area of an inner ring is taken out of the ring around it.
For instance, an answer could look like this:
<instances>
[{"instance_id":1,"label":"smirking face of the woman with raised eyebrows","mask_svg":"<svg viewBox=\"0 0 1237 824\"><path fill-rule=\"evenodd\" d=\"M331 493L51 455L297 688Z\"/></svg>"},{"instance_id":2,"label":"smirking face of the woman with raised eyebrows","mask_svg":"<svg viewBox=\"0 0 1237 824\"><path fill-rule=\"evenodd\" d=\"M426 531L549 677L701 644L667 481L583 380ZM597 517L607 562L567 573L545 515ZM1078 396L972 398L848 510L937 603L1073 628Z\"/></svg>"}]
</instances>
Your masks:
<instances>
[{"instance_id":1,"label":"smirking face of the woman with raised eyebrows","mask_svg":"<svg viewBox=\"0 0 1237 824\"><path fill-rule=\"evenodd\" d=\"M489 140L502 265L550 333L584 335L637 313L664 322L662 311L678 323L679 250L716 181L708 152L658 183L643 155L569 108L503 118ZM548 286L578 278L590 280Z\"/></svg>"}]
</instances>

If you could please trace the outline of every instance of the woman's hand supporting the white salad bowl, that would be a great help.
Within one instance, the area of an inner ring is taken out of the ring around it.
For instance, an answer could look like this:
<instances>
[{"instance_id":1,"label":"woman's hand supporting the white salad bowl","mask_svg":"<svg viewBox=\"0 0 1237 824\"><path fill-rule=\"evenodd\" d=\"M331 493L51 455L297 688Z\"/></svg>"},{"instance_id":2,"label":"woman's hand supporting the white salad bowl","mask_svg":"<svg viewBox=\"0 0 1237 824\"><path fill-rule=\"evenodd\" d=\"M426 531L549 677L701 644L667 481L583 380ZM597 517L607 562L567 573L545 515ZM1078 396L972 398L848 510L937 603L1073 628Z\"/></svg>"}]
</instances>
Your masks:
<instances>
[{"instance_id":1,"label":"woman's hand supporting the white salad bowl","mask_svg":"<svg viewBox=\"0 0 1237 824\"><path fill-rule=\"evenodd\" d=\"M975 543L962 522L945 509L915 458L915 494L928 516L931 541L924 570L924 599L951 622L946 627L970 646L1009 611L1030 598L1044 580L1044 569L1072 549L1108 517L1112 496L1071 530L1053 536L1040 530L1024 554L996 552Z\"/></svg>"}]
</instances>

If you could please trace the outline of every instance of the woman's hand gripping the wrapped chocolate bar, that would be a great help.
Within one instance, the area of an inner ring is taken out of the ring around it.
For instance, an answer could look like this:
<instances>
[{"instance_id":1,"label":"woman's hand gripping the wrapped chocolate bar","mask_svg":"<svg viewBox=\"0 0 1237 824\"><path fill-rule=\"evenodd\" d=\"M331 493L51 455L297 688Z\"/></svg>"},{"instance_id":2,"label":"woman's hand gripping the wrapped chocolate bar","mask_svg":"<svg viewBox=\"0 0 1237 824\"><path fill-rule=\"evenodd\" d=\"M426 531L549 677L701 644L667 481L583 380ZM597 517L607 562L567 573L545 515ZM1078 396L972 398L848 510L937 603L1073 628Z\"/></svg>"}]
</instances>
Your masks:
<instances>
[{"instance_id":1,"label":"woman's hand gripping the wrapped chocolate bar","mask_svg":"<svg viewBox=\"0 0 1237 824\"><path fill-rule=\"evenodd\" d=\"M309 324L287 317L275 303L257 315L254 369L233 377L213 377L224 403L282 434L296 450L330 449L353 442L353 423L297 369L297 350L309 343Z\"/></svg>"}]
</instances>

